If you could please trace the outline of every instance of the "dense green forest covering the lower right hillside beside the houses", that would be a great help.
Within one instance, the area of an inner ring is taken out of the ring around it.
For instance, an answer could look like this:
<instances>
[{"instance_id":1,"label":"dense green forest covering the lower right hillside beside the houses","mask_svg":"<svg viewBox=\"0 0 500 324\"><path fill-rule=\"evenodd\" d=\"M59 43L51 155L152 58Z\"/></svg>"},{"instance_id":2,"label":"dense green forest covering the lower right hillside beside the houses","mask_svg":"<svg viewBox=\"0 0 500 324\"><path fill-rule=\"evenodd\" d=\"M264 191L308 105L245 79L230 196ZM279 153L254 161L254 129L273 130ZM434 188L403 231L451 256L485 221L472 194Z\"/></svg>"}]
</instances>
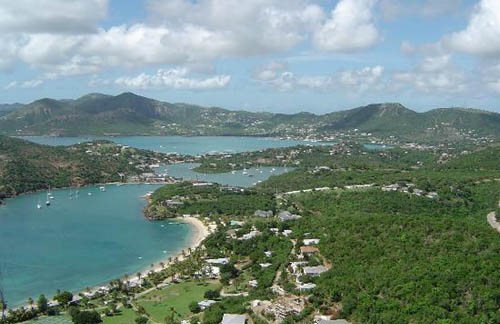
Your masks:
<instances>
[{"instance_id":1,"label":"dense green forest covering the lower right hillside beside the houses","mask_svg":"<svg viewBox=\"0 0 500 324\"><path fill-rule=\"evenodd\" d=\"M470 189L456 206L380 190L296 196L308 212L294 230L321 237L332 263L319 304L361 323L498 323L500 238L484 217L500 184Z\"/></svg>"}]
</instances>

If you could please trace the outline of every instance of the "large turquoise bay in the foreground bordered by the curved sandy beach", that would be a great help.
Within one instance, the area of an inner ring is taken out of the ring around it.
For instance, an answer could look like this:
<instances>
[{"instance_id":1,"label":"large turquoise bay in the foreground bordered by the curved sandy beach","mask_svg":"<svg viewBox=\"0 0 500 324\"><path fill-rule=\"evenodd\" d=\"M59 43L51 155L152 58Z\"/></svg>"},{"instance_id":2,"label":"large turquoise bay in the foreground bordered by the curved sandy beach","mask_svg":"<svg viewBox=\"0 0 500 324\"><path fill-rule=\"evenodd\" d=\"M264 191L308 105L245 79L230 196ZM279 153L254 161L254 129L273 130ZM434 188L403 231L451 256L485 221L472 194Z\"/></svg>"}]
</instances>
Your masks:
<instances>
[{"instance_id":1,"label":"large turquoise bay in the foreground bordered by the curved sandy beach","mask_svg":"<svg viewBox=\"0 0 500 324\"><path fill-rule=\"evenodd\" d=\"M144 219L140 197L157 187L90 187L72 200L69 189L55 190L50 207L45 193L7 200L0 207L0 285L9 306L136 273L187 246L189 225Z\"/></svg>"}]
</instances>

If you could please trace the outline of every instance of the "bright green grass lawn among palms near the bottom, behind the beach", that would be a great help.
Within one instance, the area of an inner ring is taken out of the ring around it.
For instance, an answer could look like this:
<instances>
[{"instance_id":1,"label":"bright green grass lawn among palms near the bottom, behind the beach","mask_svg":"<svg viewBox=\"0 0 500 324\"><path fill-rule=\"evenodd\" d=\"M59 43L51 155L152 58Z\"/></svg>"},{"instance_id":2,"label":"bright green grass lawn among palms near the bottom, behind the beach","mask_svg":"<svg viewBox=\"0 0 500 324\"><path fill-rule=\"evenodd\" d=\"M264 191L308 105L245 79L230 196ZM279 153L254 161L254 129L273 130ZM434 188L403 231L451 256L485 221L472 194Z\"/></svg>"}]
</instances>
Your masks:
<instances>
[{"instance_id":1,"label":"bright green grass lawn among palms near the bottom, behind the beach","mask_svg":"<svg viewBox=\"0 0 500 324\"><path fill-rule=\"evenodd\" d=\"M148 314L156 322L163 322L167 315L170 315L170 307L183 318L189 313L189 304L193 301L200 302L205 298L203 295L207 290L219 288L215 281L206 284L185 281L173 284L161 290L155 290L137 300L137 304L146 309Z\"/></svg>"}]
</instances>

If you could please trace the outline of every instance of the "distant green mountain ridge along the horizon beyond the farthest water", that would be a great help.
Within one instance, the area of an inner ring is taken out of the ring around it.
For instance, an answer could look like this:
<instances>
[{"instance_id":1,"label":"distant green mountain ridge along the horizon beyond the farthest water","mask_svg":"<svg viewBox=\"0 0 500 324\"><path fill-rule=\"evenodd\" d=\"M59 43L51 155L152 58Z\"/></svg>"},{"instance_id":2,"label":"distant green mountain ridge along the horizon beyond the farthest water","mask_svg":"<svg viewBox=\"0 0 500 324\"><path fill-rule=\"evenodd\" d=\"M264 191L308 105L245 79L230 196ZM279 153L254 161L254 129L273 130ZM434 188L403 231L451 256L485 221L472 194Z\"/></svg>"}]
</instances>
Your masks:
<instances>
[{"instance_id":1,"label":"distant green mountain ridge along the horizon beyond the farthest water","mask_svg":"<svg viewBox=\"0 0 500 324\"><path fill-rule=\"evenodd\" d=\"M356 129L408 140L500 135L498 113L464 108L417 113L399 103L371 104L325 115L275 114L172 104L126 92L117 96L92 93L75 100L44 98L16 108L0 116L0 134L305 137Z\"/></svg>"}]
</instances>

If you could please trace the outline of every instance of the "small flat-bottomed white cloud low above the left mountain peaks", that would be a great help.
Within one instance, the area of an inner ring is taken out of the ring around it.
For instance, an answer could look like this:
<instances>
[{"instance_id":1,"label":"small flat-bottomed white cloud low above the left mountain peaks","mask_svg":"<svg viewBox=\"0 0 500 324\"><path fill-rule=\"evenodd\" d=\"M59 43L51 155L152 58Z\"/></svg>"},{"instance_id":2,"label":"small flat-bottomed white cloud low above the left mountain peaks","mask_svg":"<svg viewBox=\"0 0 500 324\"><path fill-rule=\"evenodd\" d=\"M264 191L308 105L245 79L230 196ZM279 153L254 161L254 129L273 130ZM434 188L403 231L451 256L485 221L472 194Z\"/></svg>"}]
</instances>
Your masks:
<instances>
[{"instance_id":1,"label":"small flat-bottomed white cloud low above the left mountain peaks","mask_svg":"<svg viewBox=\"0 0 500 324\"><path fill-rule=\"evenodd\" d=\"M115 84L133 89L214 90L227 87L230 81L231 76L229 75L216 75L204 79L191 78L188 69L176 68L160 69L156 74L141 73L135 77L121 77L115 80Z\"/></svg>"}]
</instances>

